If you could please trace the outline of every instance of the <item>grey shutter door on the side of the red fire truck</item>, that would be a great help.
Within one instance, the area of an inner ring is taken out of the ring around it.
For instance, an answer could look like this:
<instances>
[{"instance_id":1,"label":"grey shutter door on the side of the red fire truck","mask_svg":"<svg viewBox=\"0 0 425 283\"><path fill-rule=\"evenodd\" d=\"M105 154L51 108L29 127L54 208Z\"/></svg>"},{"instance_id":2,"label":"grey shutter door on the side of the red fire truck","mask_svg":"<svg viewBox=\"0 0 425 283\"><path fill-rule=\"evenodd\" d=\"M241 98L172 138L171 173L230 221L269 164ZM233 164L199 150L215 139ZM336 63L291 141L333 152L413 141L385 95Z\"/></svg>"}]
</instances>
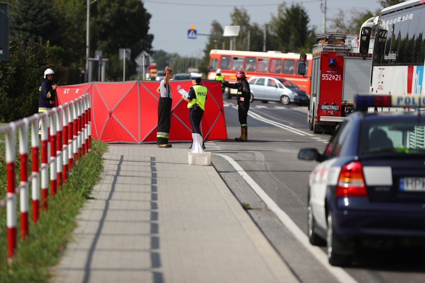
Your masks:
<instances>
[{"instance_id":1,"label":"grey shutter door on the side of the red fire truck","mask_svg":"<svg viewBox=\"0 0 425 283\"><path fill-rule=\"evenodd\" d=\"M356 94L369 93L369 81L372 59L362 57L346 57L344 60L344 85L342 101L354 103Z\"/></svg>"}]
</instances>

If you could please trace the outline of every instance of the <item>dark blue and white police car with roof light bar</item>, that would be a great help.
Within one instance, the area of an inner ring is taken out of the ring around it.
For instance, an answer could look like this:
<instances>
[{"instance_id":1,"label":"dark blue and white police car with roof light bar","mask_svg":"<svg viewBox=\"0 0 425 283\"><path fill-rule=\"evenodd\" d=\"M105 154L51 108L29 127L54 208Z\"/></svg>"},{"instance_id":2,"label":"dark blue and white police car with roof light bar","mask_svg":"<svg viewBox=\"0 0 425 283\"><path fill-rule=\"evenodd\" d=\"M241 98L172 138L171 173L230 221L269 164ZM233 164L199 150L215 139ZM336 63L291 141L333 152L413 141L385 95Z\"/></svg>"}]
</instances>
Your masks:
<instances>
[{"instance_id":1,"label":"dark blue and white police car with roof light bar","mask_svg":"<svg viewBox=\"0 0 425 283\"><path fill-rule=\"evenodd\" d=\"M356 107L366 111L348 115L323 153L298 153L320 162L308 179L308 237L326 242L334 266L359 247L425 244L424 98L358 96Z\"/></svg>"}]
</instances>

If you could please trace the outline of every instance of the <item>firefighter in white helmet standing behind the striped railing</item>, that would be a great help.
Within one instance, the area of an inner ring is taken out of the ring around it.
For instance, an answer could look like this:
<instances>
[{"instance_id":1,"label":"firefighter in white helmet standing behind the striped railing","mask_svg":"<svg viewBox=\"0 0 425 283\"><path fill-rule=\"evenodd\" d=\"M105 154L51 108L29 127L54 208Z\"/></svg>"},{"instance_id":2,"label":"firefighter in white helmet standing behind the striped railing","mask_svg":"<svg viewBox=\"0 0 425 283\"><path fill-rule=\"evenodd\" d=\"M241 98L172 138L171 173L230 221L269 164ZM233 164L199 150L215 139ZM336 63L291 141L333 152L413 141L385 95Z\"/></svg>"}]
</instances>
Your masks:
<instances>
[{"instance_id":1,"label":"firefighter in white helmet standing behind the striped railing","mask_svg":"<svg viewBox=\"0 0 425 283\"><path fill-rule=\"evenodd\" d=\"M54 83L53 78L53 70L46 69L44 71L44 80L41 82L40 88L38 89L38 113L45 112L54 107L57 85ZM38 124L38 135L41 138L41 121Z\"/></svg>"}]
</instances>

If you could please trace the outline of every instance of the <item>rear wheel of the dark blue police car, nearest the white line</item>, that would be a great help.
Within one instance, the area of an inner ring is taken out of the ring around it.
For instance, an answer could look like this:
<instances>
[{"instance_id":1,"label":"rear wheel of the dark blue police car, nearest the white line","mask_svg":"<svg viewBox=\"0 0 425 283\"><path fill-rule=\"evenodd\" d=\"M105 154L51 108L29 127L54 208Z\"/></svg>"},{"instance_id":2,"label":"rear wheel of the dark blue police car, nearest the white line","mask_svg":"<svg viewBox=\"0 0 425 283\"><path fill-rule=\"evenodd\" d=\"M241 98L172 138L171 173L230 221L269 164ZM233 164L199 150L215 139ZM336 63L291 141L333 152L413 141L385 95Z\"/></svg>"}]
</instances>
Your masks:
<instances>
[{"instance_id":1,"label":"rear wheel of the dark blue police car, nearest the white line","mask_svg":"<svg viewBox=\"0 0 425 283\"><path fill-rule=\"evenodd\" d=\"M326 253L332 266L348 266L351 264L350 247L338 235L333 233L332 216L328 213L328 230L326 231Z\"/></svg>"}]
</instances>

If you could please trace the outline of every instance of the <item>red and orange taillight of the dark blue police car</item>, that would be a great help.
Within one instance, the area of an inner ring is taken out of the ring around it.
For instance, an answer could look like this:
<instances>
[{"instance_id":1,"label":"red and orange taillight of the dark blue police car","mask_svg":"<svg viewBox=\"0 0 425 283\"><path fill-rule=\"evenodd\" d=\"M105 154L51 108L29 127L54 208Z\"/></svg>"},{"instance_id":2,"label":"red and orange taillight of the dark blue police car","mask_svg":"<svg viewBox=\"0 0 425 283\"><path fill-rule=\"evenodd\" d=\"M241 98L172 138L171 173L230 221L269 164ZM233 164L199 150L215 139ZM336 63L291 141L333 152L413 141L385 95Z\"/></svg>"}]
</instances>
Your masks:
<instances>
[{"instance_id":1,"label":"red and orange taillight of the dark blue police car","mask_svg":"<svg viewBox=\"0 0 425 283\"><path fill-rule=\"evenodd\" d=\"M367 196L362 163L355 161L342 166L335 194L336 196Z\"/></svg>"}]
</instances>

